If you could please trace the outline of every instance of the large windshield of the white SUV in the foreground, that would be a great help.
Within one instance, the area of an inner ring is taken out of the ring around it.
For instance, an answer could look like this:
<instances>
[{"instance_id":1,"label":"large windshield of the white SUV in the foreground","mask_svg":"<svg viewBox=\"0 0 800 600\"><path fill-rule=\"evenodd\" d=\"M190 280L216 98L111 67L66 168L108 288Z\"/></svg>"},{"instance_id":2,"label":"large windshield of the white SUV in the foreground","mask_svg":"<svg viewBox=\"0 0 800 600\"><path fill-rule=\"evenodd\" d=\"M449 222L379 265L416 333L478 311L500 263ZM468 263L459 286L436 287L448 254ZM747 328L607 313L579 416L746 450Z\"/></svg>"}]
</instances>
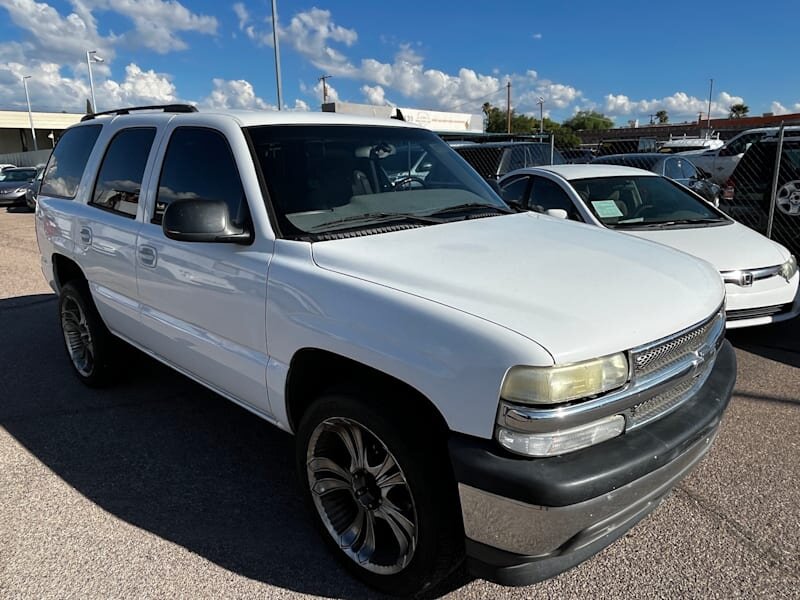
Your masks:
<instances>
[{"instance_id":1,"label":"large windshield of the white SUV in the foreground","mask_svg":"<svg viewBox=\"0 0 800 600\"><path fill-rule=\"evenodd\" d=\"M427 130L282 125L247 131L288 236L508 212L488 184Z\"/></svg>"}]
</instances>

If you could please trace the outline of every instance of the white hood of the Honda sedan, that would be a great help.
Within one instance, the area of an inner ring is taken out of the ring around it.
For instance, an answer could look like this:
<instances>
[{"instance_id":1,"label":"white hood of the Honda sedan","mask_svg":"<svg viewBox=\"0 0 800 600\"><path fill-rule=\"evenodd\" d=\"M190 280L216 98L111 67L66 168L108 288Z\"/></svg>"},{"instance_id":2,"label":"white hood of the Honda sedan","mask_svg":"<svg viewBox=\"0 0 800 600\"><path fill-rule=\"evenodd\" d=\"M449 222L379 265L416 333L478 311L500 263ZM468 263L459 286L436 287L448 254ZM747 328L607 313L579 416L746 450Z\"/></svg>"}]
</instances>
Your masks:
<instances>
[{"instance_id":1,"label":"white hood of the Honda sedan","mask_svg":"<svg viewBox=\"0 0 800 600\"><path fill-rule=\"evenodd\" d=\"M707 260L718 271L773 267L789 258L788 250L736 222L719 227L631 230L625 233Z\"/></svg>"}]
</instances>

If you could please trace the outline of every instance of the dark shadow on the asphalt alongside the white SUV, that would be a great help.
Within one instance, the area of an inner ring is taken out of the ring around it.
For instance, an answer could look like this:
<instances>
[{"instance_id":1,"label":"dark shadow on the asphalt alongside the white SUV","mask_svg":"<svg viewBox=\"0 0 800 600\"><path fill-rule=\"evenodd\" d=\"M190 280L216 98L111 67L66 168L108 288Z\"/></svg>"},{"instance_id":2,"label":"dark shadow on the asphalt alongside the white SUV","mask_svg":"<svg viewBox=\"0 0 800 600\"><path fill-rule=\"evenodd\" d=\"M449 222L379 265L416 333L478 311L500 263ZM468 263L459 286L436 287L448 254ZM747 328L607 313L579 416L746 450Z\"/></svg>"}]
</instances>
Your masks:
<instances>
[{"instance_id":1,"label":"dark shadow on the asphalt alongside the white SUV","mask_svg":"<svg viewBox=\"0 0 800 600\"><path fill-rule=\"evenodd\" d=\"M0 300L0 331L0 426L83 496L245 577L376 597L328 554L298 501L291 436L134 350L115 387L84 387L52 294Z\"/></svg>"}]
</instances>

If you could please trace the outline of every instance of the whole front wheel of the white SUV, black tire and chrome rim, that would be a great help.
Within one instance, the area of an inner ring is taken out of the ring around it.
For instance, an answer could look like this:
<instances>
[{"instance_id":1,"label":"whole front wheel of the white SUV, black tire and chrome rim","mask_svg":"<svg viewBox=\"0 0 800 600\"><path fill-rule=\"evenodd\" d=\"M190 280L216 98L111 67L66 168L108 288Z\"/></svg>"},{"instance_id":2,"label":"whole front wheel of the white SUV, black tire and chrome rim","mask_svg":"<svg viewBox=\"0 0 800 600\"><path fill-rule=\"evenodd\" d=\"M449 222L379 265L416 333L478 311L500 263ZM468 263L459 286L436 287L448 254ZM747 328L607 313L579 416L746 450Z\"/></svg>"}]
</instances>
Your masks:
<instances>
[{"instance_id":1,"label":"whole front wheel of the white SUV, black tire and chrome rim","mask_svg":"<svg viewBox=\"0 0 800 600\"><path fill-rule=\"evenodd\" d=\"M410 596L461 564L464 533L446 436L434 435L428 415L409 415L413 405L398 406L386 390L323 395L300 423L296 457L337 559L367 585Z\"/></svg>"}]
</instances>

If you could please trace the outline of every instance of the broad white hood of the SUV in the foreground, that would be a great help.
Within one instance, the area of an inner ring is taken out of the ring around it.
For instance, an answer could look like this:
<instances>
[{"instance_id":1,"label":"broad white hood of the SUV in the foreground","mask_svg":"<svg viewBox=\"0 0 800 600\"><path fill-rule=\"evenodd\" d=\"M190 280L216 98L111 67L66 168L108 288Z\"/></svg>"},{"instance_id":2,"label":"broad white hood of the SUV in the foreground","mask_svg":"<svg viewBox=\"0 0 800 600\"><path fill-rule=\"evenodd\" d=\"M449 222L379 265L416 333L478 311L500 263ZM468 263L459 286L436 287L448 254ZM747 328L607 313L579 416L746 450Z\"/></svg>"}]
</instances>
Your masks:
<instances>
[{"instance_id":1,"label":"broad white hood of the SUV in the foreground","mask_svg":"<svg viewBox=\"0 0 800 600\"><path fill-rule=\"evenodd\" d=\"M703 261L535 213L315 242L312 253L323 269L515 331L557 363L671 335L710 316L724 296Z\"/></svg>"}]
</instances>

